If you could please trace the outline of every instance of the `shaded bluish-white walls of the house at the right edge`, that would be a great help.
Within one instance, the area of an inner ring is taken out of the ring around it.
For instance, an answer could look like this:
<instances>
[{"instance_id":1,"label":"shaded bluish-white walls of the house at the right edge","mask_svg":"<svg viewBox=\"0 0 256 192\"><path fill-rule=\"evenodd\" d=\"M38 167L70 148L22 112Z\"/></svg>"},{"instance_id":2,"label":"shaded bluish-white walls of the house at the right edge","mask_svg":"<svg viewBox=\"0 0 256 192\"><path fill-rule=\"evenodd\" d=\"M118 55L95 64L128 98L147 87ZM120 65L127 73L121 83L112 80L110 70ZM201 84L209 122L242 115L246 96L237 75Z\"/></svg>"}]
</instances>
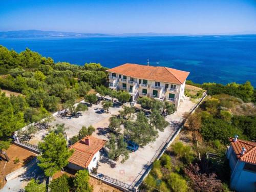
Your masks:
<instances>
[{"instance_id":1,"label":"shaded bluish-white walls of the house at the right edge","mask_svg":"<svg viewBox=\"0 0 256 192\"><path fill-rule=\"evenodd\" d=\"M226 156L231 169L230 188L239 192L256 191L256 165L237 159L232 146L228 148Z\"/></svg>"}]
</instances>

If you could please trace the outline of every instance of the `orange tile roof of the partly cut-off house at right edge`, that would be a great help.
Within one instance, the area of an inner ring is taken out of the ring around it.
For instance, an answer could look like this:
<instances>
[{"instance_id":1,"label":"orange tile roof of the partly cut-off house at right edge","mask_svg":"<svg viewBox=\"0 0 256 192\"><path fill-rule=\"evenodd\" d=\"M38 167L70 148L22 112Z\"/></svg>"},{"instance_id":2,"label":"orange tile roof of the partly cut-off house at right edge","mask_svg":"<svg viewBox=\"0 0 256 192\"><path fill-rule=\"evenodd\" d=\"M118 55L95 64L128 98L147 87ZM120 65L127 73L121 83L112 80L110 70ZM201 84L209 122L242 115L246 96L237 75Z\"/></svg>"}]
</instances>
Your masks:
<instances>
[{"instance_id":1,"label":"orange tile roof of the partly cut-off house at right edge","mask_svg":"<svg viewBox=\"0 0 256 192\"><path fill-rule=\"evenodd\" d=\"M234 153L237 155L239 160L256 164L256 142L245 141L241 139L238 139L237 142L234 142L233 138L229 138L229 141L234 150ZM244 155L241 155L242 147L246 149Z\"/></svg>"}]
</instances>

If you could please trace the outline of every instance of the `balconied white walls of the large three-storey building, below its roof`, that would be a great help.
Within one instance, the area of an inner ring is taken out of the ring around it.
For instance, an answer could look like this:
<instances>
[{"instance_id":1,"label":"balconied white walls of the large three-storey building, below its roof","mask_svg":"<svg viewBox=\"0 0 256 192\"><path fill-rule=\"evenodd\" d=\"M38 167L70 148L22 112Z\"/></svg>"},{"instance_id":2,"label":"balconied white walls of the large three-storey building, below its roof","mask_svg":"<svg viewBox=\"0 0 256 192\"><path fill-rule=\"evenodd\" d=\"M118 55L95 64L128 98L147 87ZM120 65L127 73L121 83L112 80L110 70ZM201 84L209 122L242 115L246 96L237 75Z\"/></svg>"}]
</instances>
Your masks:
<instances>
[{"instance_id":1,"label":"balconied white walls of the large three-storey building, below its roof","mask_svg":"<svg viewBox=\"0 0 256 192\"><path fill-rule=\"evenodd\" d=\"M117 73L109 73L111 89L128 91L132 101L140 97L150 97L161 101L169 101L179 107L184 97L185 81L183 84L175 84L149 79L139 79Z\"/></svg>"}]
</instances>

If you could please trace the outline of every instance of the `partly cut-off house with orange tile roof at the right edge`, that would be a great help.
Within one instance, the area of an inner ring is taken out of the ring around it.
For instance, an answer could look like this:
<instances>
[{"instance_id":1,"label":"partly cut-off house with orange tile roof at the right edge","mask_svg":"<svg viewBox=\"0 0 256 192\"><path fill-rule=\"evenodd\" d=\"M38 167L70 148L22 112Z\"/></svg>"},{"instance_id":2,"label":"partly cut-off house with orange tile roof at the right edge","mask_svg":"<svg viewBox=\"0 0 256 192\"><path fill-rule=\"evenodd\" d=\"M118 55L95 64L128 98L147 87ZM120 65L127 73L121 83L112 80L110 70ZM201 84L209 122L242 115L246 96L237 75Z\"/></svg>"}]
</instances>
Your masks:
<instances>
[{"instance_id":1,"label":"partly cut-off house with orange tile roof at the right edge","mask_svg":"<svg viewBox=\"0 0 256 192\"><path fill-rule=\"evenodd\" d=\"M229 138L226 157L231 169L230 188L236 191L256 191L256 142Z\"/></svg>"}]
</instances>

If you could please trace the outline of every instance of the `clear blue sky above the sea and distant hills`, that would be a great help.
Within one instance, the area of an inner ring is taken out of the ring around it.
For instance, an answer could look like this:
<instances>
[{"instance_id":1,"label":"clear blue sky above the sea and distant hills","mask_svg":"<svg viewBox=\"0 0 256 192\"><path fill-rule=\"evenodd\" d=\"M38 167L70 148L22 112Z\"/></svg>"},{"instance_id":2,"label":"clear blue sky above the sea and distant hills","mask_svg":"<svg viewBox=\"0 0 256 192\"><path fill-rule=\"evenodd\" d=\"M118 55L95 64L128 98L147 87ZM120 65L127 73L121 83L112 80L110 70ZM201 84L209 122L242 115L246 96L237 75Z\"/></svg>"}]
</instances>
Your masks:
<instances>
[{"instance_id":1,"label":"clear blue sky above the sea and distant hills","mask_svg":"<svg viewBox=\"0 0 256 192\"><path fill-rule=\"evenodd\" d=\"M256 34L255 0L2 0L0 31Z\"/></svg>"}]
</instances>

